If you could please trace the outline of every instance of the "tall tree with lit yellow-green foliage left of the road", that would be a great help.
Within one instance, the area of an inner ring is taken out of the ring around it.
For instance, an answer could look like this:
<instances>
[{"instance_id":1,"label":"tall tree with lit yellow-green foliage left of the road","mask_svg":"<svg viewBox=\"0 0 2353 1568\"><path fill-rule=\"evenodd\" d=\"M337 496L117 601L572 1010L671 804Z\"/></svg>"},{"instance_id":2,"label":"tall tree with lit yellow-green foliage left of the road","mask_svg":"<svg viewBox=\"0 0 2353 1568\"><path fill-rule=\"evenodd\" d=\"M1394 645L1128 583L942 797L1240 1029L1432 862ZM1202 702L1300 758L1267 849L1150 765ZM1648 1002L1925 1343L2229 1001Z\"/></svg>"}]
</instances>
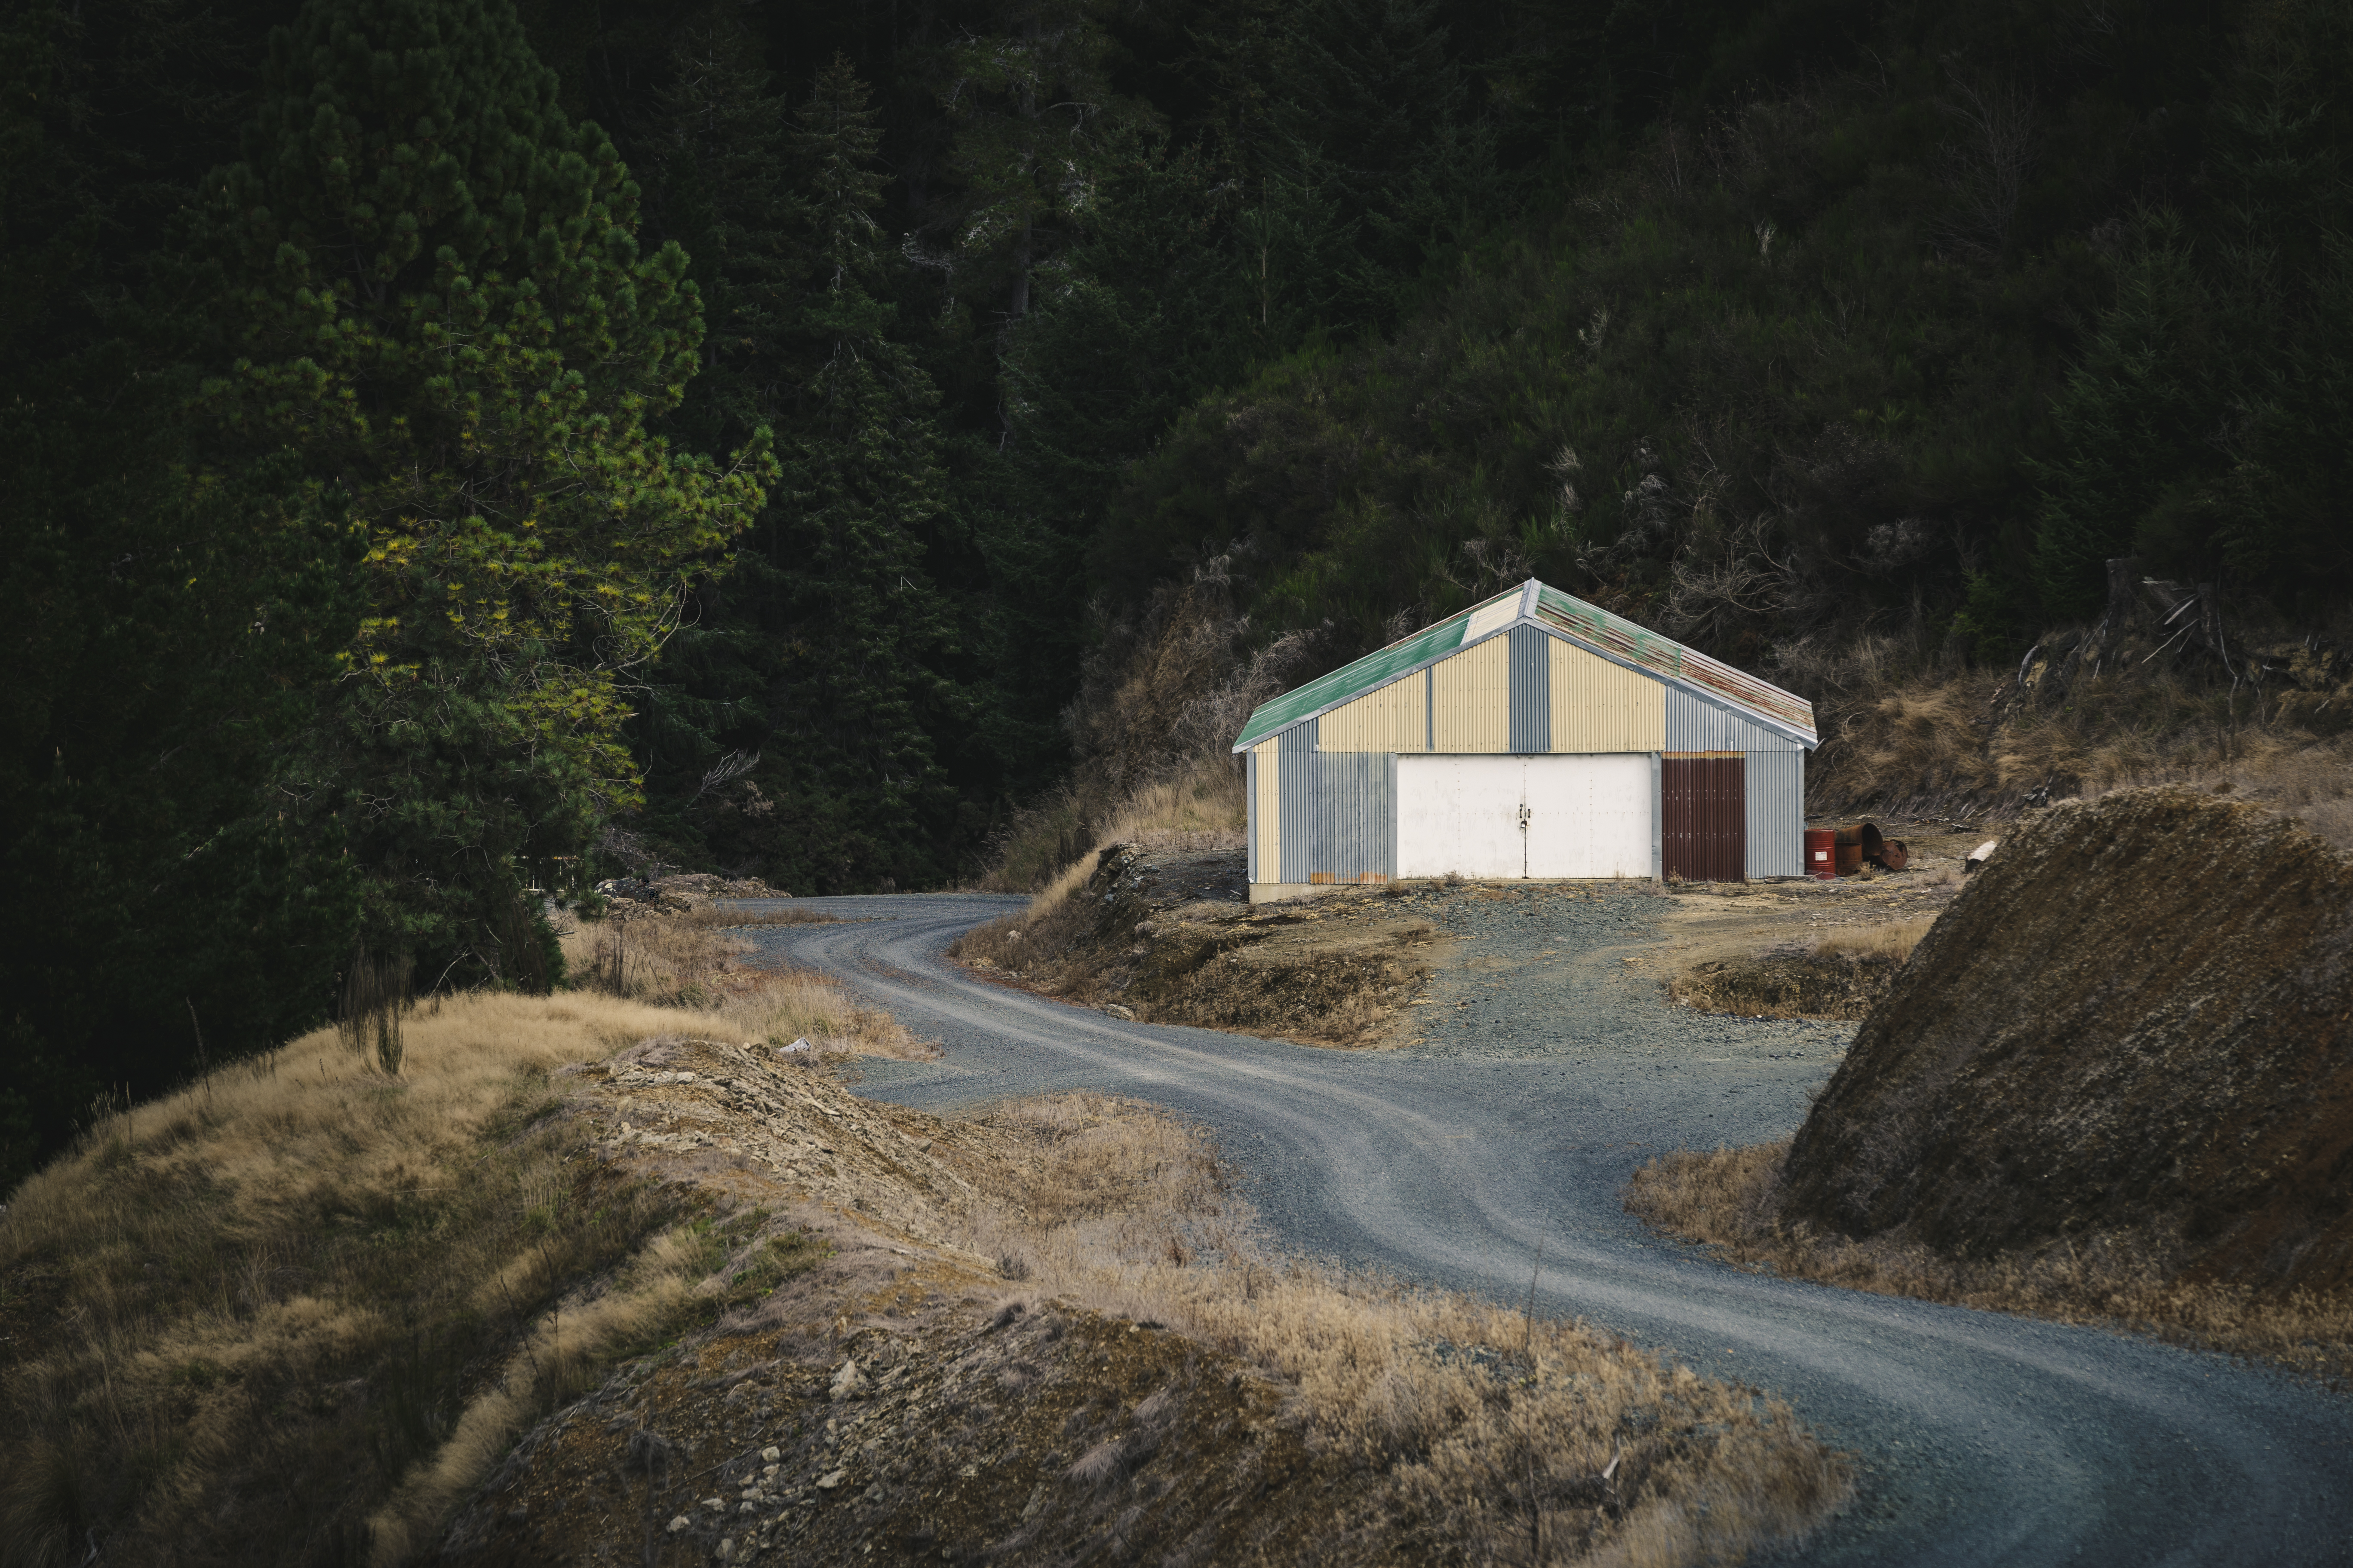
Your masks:
<instances>
[{"instance_id":1,"label":"tall tree with lit yellow-green foliage left of the road","mask_svg":"<svg viewBox=\"0 0 2353 1568\"><path fill-rule=\"evenodd\" d=\"M504 0L313 0L207 190L224 440L292 449L365 529L320 788L353 799L376 943L544 985L522 886L635 797L619 741L687 576L760 503L647 433L696 369L675 244Z\"/></svg>"}]
</instances>

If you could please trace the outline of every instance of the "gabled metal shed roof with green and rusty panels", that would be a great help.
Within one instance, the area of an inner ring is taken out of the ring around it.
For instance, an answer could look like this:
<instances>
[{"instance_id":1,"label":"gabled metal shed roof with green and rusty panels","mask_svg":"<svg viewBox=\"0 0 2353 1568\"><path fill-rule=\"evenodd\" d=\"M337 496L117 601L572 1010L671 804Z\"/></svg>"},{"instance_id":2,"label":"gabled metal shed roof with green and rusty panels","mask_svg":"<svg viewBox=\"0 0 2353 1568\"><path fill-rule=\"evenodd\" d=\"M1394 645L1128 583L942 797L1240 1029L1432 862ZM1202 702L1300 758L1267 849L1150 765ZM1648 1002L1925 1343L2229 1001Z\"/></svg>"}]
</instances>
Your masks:
<instances>
[{"instance_id":1,"label":"gabled metal shed roof with green and rusty panels","mask_svg":"<svg viewBox=\"0 0 2353 1568\"><path fill-rule=\"evenodd\" d=\"M1480 616L1480 611L1501 604L1504 599L1518 599L1513 607L1518 614L1501 618L1492 614ZM1289 729L1301 719L1332 712L1341 703L1355 701L1374 686L1386 686L1400 675L1412 675L1424 665L1438 663L1464 644L1473 616L1480 616L1482 637L1522 623L1539 625L1553 637L1565 637L1591 654L1600 654L1609 663L1640 670L1642 675L1673 686L1685 686L1687 691L1697 691L1699 696L1755 719L1758 724L1774 729L1805 748L1814 748L1819 743L1819 736L1814 733L1814 705L1802 696L1781 691L1746 670L1734 670L1732 665L1708 658L1697 649L1687 649L1671 637L1661 637L1659 632L1640 628L1633 621L1612 616L1598 604L1586 604L1584 599L1551 588L1548 583L1529 578L1511 592L1482 599L1457 616L1447 616L1445 621L1405 637L1402 642L1391 642L1386 649L1365 654L1351 665L1341 665L1329 675L1311 679L1306 686L1297 686L1264 703L1254 715L1249 715L1249 724L1242 726L1242 736L1233 743L1233 750L1247 750L1278 729Z\"/></svg>"}]
</instances>

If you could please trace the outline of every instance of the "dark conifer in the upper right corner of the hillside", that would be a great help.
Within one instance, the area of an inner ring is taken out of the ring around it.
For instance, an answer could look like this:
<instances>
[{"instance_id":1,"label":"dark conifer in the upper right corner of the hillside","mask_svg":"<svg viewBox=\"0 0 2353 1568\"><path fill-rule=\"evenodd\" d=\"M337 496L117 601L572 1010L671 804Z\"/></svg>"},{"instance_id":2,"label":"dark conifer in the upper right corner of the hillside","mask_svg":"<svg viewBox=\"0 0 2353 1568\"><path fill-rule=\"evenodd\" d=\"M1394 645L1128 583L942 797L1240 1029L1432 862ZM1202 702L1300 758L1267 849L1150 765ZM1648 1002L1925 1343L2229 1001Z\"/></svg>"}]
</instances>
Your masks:
<instances>
[{"instance_id":1,"label":"dark conifer in the upper right corner of the hillside","mask_svg":"<svg viewBox=\"0 0 2353 1568\"><path fill-rule=\"evenodd\" d=\"M2052 614L2089 614L2127 552L2282 611L2353 588L2348 71L2341 9L2254 16L2217 101L2214 200L2139 221L2038 468Z\"/></svg>"}]
</instances>

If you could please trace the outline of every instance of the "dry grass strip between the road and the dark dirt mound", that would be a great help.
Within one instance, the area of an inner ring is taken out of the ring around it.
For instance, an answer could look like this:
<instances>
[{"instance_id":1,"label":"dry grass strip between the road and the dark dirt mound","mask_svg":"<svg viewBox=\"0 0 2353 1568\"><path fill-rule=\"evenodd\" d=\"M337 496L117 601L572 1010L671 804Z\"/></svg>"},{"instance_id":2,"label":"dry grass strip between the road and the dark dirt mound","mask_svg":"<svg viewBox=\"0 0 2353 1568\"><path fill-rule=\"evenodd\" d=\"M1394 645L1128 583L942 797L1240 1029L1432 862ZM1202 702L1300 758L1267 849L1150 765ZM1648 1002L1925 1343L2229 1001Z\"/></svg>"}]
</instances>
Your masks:
<instances>
[{"instance_id":1,"label":"dry grass strip between the road and the dark dirt mound","mask_svg":"<svg viewBox=\"0 0 2353 1568\"><path fill-rule=\"evenodd\" d=\"M1817 1234L1777 1215L1786 1157L1788 1143L1664 1154L1635 1171L1626 1208L1657 1229L1718 1246L1751 1269L2127 1328L2353 1385L2353 1300L2308 1291L2259 1295L2224 1281L2181 1279L2167 1267L2162 1237L2078 1237L2040 1253L1948 1258L1901 1237Z\"/></svg>"}]
</instances>

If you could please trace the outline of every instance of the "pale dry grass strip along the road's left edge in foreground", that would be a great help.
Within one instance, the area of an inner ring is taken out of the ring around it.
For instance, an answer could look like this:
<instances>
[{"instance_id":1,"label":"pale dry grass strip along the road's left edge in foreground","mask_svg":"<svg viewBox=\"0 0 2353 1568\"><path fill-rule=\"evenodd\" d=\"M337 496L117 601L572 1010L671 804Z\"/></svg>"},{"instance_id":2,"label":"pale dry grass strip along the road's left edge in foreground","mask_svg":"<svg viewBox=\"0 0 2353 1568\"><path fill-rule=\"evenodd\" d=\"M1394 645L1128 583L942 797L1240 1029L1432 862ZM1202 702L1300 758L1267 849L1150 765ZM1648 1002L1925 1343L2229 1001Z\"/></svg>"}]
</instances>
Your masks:
<instances>
[{"instance_id":1,"label":"pale dry grass strip along the road's left edge in foreground","mask_svg":"<svg viewBox=\"0 0 2353 1568\"><path fill-rule=\"evenodd\" d=\"M1080 1093L988 1121L1024 1157L967 1246L1289 1389L1308 1453L1346 1476L1360 1547L1334 1556L1737 1561L1847 1495L1845 1462L1777 1399L1584 1324L1268 1253L1207 1143L1165 1114Z\"/></svg>"}]
</instances>

